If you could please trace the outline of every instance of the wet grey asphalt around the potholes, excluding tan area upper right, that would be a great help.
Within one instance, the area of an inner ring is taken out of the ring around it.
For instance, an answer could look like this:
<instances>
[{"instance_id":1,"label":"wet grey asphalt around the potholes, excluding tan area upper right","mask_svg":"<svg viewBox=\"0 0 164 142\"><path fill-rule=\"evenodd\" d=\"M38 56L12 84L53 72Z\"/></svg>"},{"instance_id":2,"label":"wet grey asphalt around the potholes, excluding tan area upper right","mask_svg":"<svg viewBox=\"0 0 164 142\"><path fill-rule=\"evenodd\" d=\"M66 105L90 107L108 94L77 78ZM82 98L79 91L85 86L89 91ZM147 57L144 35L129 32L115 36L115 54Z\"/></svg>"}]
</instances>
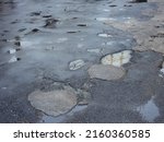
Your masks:
<instances>
[{"instance_id":1,"label":"wet grey asphalt around the potholes, excluding tan area upper right","mask_svg":"<svg viewBox=\"0 0 164 142\"><path fill-rule=\"evenodd\" d=\"M133 50L120 80L90 79L87 73L105 55L137 44L132 33L97 19L149 21L151 15L141 11L156 8L126 0L1 0L0 122L164 122L162 54ZM104 33L112 37L98 36ZM85 66L71 71L69 63L78 59ZM35 109L28 94L51 90L55 82L74 90L86 84L90 103L59 117Z\"/></svg>"}]
</instances>

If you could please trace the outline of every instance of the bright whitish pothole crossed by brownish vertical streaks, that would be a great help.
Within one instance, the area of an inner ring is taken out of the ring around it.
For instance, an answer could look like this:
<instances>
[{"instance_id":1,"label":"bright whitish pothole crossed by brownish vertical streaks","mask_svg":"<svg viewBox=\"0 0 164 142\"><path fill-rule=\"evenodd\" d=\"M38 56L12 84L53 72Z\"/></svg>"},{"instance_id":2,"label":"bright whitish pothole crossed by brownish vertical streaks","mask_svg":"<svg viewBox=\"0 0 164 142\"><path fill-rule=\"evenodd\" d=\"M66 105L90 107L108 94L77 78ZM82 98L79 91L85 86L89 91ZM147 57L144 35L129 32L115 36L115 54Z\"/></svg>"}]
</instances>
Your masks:
<instances>
[{"instance_id":1,"label":"bright whitish pothole crossed by brownish vertical streaks","mask_svg":"<svg viewBox=\"0 0 164 142\"><path fill-rule=\"evenodd\" d=\"M131 50L124 50L120 52L107 55L102 58L101 62L102 64L112 64L115 67L121 67L125 63L128 63L131 59Z\"/></svg>"}]
</instances>

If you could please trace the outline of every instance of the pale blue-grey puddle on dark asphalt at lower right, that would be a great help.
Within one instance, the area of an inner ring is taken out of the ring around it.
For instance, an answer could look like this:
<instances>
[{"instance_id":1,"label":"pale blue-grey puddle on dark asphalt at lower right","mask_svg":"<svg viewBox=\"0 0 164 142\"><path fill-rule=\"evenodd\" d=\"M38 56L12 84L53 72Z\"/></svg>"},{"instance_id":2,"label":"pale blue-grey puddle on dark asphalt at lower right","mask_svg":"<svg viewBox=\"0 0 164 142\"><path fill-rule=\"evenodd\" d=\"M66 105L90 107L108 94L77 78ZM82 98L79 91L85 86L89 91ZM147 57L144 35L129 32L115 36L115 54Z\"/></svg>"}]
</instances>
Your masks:
<instances>
[{"instance_id":1,"label":"pale blue-grey puddle on dark asphalt at lower right","mask_svg":"<svg viewBox=\"0 0 164 142\"><path fill-rule=\"evenodd\" d=\"M153 122L160 116L157 106L152 97L147 104L139 106L137 110L141 114L142 118L149 122Z\"/></svg>"}]
</instances>

